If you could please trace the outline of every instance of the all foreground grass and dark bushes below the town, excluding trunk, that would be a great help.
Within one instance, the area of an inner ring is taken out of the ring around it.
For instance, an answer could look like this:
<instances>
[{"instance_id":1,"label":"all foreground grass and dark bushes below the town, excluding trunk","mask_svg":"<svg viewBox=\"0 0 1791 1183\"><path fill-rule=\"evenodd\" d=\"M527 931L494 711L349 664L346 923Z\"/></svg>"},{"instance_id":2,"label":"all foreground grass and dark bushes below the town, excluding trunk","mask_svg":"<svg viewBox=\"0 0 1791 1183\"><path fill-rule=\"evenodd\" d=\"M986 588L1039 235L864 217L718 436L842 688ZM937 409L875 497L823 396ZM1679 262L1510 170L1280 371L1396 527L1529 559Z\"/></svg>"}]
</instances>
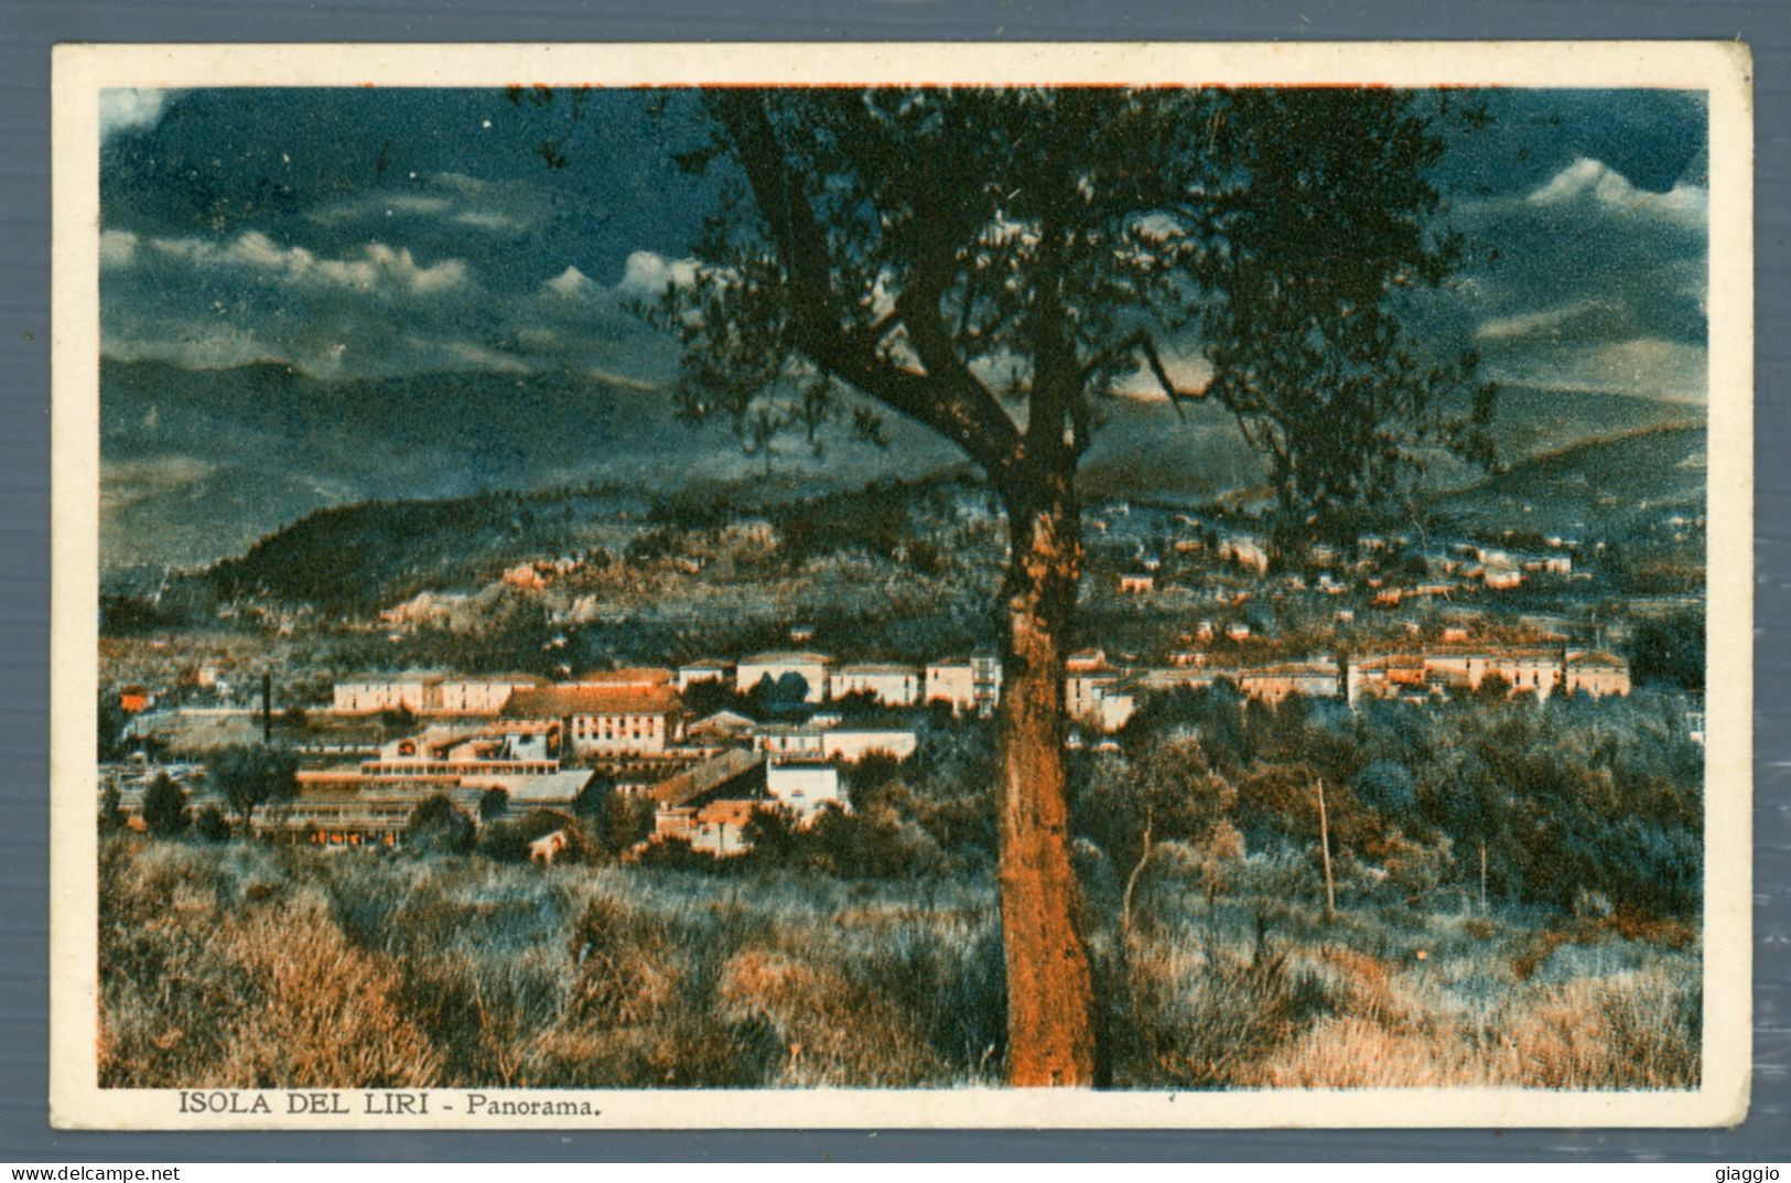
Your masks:
<instances>
[{"instance_id":1,"label":"all foreground grass and dark bushes below the town, excluding trunk","mask_svg":"<svg viewBox=\"0 0 1791 1183\"><path fill-rule=\"evenodd\" d=\"M621 796L476 837L419 808L399 853L244 842L177 794L161 837L102 816L100 1079L996 1084L992 751L933 719L851 814L761 814L727 860L620 862ZM1700 756L1671 694L1148 701L1071 764L1098 1079L1696 1084ZM570 862L528 866L552 828Z\"/></svg>"}]
</instances>

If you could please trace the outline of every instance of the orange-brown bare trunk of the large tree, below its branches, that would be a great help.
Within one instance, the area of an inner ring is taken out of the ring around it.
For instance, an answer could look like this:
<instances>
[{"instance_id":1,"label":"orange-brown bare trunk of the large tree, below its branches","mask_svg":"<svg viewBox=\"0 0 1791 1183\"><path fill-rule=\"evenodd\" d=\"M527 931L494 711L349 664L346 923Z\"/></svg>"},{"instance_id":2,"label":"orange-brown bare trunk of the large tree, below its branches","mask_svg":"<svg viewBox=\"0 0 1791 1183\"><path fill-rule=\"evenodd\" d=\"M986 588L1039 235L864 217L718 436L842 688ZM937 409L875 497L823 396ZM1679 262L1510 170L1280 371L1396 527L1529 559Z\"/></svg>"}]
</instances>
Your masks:
<instances>
[{"instance_id":1,"label":"orange-brown bare trunk of the large tree, below its branches","mask_svg":"<svg viewBox=\"0 0 1791 1183\"><path fill-rule=\"evenodd\" d=\"M1008 563L1001 686L1001 936L1008 1083L1094 1081L1094 991L1076 925L1064 758L1064 656L1082 574L1069 477L1005 489Z\"/></svg>"}]
</instances>

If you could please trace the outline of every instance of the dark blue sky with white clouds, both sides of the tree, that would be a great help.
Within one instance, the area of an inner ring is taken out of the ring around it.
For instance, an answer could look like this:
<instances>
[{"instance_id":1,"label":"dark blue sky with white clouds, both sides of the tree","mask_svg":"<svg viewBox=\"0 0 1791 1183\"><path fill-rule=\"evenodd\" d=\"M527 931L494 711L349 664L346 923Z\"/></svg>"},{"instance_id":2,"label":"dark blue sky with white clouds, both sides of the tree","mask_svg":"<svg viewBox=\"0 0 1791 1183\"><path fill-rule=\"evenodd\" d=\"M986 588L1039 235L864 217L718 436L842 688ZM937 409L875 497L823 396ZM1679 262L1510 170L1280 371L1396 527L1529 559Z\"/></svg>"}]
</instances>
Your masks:
<instances>
[{"instance_id":1,"label":"dark blue sky with white clouds, both sides of the tree","mask_svg":"<svg viewBox=\"0 0 1791 1183\"><path fill-rule=\"evenodd\" d=\"M1438 170L1479 262L1418 333L1504 384L1701 400L1701 95L1481 97L1490 127ZM106 91L104 355L666 382L673 346L625 305L688 265L711 194L670 158L677 102L584 104L562 140L566 102L505 91Z\"/></svg>"}]
</instances>

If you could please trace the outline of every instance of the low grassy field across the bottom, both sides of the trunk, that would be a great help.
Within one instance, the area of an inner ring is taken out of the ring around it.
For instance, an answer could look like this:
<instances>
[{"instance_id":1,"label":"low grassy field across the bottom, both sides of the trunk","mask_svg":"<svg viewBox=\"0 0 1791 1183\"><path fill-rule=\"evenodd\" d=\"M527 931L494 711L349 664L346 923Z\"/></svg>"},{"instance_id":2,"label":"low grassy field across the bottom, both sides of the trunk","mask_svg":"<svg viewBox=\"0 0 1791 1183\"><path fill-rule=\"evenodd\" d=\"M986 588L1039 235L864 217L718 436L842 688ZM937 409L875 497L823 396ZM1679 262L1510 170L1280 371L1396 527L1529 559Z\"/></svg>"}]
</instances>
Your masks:
<instances>
[{"instance_id":1,"label":"low grassy field across the bottom, both sides of the trunk","mask_svg":"<svg viewBox=\"0 0 1791 1183\"><path fill-rule=\"evenodd\" d=\"M1680 923L1343 909L1173 851L1130 936L1087 868L1118 1088L1698 1081ZM1123 946L1123 948L1121 948ZM106 1086L971 1086L1003 1072L985 876L536 869L113 837Z\"/></svg>"}]
</instances>

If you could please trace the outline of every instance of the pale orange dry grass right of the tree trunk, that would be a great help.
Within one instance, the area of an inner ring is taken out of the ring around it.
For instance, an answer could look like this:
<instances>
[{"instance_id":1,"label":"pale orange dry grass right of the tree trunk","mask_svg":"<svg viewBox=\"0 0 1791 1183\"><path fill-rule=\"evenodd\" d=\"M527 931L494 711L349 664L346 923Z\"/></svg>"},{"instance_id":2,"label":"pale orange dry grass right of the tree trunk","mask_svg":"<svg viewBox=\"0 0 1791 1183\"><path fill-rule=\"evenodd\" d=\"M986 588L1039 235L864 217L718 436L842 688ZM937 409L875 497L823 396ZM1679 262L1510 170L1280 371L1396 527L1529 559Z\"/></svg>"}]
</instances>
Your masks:
<instances>
[{"instance_id":1,"label":"pale orange dry grass right of the tree trunk","mask_svg":"<svg viewBox=\"0 0 1791 1183\"><path fill-rule=\"evenodd\" d=\"M1685 925L1607 918L1562 930L1406 916L1395 927L1345 914L1327 927L1316 909L1286 905L1259 925L1259 905L1170 925L1178 937L1134 950L1134 982L1148 980L1134 995L1146 1056L1116 1083L1698 1084L1700 959ZM1207 1031L1191 1034L1191 1022Z\"/></svg>"}]
</instances>

